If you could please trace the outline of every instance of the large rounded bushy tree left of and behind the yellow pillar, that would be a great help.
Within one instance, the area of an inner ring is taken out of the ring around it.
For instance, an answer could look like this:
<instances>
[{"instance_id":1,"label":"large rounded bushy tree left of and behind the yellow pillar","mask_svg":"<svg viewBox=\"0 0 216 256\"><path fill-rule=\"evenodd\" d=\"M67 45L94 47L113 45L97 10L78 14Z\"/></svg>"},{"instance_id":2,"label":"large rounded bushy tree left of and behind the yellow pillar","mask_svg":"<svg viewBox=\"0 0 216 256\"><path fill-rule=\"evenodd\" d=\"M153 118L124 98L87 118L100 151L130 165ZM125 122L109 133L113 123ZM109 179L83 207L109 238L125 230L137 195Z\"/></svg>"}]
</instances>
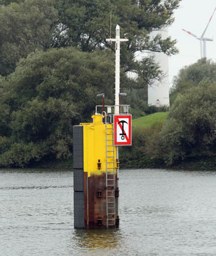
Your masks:
<instances>
[{"instance_id":1,"label":"large rounded bushy tree left of and behind the yellow pillar","mask_svg":"<svg viewBox=\"0 0 216 256\"><path fill-rule=\"evenodd\" d=\"M0 79L0 166L71 156L72 125L91 120L96 94L113 104L113 73L109 50L50 49L22 59Z\"/></svg>"}]
</instances>

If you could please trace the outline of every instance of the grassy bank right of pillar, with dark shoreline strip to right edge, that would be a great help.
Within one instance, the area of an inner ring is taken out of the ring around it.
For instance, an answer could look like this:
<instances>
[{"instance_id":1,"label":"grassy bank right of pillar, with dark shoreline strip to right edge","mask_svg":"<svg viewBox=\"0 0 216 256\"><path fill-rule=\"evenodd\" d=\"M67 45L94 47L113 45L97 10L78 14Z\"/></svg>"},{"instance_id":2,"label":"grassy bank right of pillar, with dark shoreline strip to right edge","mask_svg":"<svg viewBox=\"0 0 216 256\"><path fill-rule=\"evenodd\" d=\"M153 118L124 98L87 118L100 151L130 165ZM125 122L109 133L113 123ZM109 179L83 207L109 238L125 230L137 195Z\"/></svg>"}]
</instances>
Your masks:
<instances>
[{"instance_id":1,"label":"grassy bank right of pillar, with dark shoreline strip to right edge","mask_svg":"<svg viewBox=\"0 0 216 256\"><path fill-rule=\"evenodd\" d=\"M191 157L167 166L161 156L155 153L155 142L167 115L167 112L158 112L133 120L132 145L119 148L120 168L216 170L216 156Z\"/></svg>"}]
</instances>

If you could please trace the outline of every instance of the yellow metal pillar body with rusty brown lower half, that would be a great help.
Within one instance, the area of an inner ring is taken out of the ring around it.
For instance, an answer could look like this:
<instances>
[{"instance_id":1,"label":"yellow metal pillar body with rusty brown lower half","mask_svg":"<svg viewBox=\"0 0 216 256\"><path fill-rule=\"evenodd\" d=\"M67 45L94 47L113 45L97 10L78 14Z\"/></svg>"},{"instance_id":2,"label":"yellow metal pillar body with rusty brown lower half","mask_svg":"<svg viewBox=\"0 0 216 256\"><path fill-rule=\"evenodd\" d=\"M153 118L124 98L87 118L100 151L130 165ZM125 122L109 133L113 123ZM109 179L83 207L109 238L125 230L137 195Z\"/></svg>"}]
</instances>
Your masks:
<instances>
[{"instance_id":1,"label":"yellow metal pillar body with rusty brown lower half","mask_svg":"<svg viewBox=\"0 0 216 256\"><path fill-rule=\"evenodd\" d=\"M113 124L103 123L103 115L92 115L92 119L92 123L79 125L83 130L85 227L118 227L119 161Z\"/></svg>"}]
</instances>

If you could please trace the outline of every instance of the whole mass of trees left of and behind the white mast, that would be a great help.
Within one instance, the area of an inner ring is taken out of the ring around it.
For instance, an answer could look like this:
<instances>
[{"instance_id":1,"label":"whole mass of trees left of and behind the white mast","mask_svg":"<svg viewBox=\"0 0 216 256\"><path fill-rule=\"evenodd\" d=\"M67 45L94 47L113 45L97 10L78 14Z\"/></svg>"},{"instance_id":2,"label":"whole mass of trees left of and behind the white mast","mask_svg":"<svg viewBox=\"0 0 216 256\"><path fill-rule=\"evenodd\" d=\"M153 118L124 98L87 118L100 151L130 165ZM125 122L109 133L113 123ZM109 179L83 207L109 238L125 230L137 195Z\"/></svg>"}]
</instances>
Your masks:
<instances>
[{"instance_id":1,"label":"whole mass of trees left of and behind the white mast","mask_svg":"<svg viewBox=\"0 0 216 256\"><path fill-rule=\"evenodd\" d=\"M122 44L121 89L130 92L133 112L144 114L141 92L161 71L152 58L134 56L177 53L175 40L150 33L172 24L179 1L1 0L0 166L71 156L72 125L89 120L95 95L105 92L113 104L114 45L106 38L116 24L129 39Z\"/></svg>"}]
</instances>

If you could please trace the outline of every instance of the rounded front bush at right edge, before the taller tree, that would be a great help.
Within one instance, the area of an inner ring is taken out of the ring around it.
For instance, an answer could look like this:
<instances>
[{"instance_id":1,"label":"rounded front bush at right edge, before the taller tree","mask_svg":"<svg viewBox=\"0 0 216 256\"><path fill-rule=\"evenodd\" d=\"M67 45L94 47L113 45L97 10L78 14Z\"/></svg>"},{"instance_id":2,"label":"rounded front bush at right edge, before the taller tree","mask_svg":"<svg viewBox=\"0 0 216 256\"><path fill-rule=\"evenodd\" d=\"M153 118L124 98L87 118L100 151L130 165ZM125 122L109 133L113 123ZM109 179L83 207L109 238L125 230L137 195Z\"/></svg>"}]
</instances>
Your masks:
<instances>
[{"instance_id":1,"label":"rounded front bush at right edge, before the taller tree","mask_svg":"<svg viewBox=\"0 0 216 256\"><path fill-rule=\"evenodd\" d=\"M201 81L179 94L170 109L159 140L168 164L216 153L216 82Z\"/></svg>"}]
</instances>

